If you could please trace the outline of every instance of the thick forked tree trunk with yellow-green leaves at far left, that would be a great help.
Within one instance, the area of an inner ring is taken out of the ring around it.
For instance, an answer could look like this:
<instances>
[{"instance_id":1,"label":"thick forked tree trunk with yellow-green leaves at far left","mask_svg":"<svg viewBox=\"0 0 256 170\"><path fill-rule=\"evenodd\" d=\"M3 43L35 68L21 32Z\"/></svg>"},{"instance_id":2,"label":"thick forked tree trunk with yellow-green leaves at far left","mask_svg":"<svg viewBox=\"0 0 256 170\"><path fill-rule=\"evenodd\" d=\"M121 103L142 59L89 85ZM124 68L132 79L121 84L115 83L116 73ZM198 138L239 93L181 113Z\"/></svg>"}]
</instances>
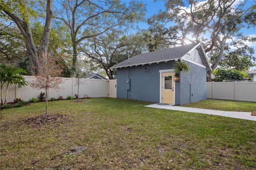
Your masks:
<instances>
[{"instance_id":1,"label":"thick forked tree trunk with yellow-green leaves at far left","mask_svg":"<svg viewBox=\"0 0 256 170\"><path fill-rule=\"evenodd\" d=\"M33 1L23 0L0 0L1 14L3 14L9 20L12 20L17 24L21 35L26 42L26 48L29 56L29 63L31 72L36 74L39 69L39 61L45 62L47 56L47 47L51 31L52 23L52 0L46 2L46 16L43 35L40 41L39 48L35 44L30 25L31 16L36 16L36 11L33 9Z\"/></svg>"}]
</instances>

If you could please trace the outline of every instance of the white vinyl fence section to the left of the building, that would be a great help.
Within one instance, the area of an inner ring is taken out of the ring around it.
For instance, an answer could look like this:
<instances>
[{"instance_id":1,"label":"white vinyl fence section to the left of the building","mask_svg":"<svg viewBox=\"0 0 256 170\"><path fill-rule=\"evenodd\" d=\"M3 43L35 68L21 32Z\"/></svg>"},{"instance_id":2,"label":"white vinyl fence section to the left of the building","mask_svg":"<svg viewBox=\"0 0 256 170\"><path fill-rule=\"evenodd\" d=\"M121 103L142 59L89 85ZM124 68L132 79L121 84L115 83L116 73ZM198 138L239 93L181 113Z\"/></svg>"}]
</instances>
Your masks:
<instances>
[{"instance_id":1,"label":"white vinyl fence section to the left of the building","mask_svg":"<svg viewBox=\"0 0 256 170\"><path fill-rule=\"evenodd\" d=\"M15 85L9 86L7 102L13 102L15 98L21 98L22 100L28 101L31 98L37 98L39 94L45 92L43 89L38 90L31 88L29 82L35 80L33 76L24 76L28 82L28 86L18 88ZM60 90L49 90L49 98L58 98L62 96L75 97L77 94L77 79L75 78L62 78L63 83L60 84ZM5 86L3 95L5 97ZM116 80L98 80L98 79L80 79L79 83L79 98L83 97L116 97Z\"/></svg>"}]
</instances>

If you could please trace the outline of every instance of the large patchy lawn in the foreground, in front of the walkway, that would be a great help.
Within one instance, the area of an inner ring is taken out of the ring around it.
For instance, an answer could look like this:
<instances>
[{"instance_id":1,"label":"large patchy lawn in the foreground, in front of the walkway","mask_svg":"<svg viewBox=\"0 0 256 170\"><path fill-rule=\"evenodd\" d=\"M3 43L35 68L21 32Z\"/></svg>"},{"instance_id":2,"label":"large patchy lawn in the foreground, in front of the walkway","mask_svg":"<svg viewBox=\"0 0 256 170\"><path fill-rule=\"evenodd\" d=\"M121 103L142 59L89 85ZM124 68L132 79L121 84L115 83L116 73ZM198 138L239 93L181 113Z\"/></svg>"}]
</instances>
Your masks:
<instances>
[{"instance_id":1,"label":"large patchy lawn in the foreground, in front of the walkway","mask_svg":"<svg viewBox=\"0 0 256 170\"><path fill-rule=\"evenodd\" d=\"M92 98L49 103L64 123L23 122L44 103L0 111L0 169L255 169L256 126L235 118ZM76 155L70 148L85 147Z\"/></svg>"}]
</instances>

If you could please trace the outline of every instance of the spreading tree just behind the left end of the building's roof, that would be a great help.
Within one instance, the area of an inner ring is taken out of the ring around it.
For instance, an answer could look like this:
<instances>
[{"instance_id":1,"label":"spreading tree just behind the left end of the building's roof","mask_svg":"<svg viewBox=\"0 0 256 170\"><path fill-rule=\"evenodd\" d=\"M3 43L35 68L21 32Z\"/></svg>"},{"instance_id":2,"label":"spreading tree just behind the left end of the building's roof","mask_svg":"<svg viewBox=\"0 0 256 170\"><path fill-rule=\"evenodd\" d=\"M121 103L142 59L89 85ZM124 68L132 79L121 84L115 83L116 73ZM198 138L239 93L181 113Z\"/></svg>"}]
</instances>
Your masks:
<instances>
[{"instance_id":1,"label":"spreading tree just behind the left end of the building's roof","mask_svg":"<svg viewBox=\"0 0 256 170\"><path fill-rule=\"evenodd\" d=\"M105 70L109 79L114 79L116 74L116 70L110 69L111 66L126 60L129 55L132 57L145 52L141 35L120 35L122 35L122 30L93 37L89 39L86 47L81 48L89 61Z\"/></svg>"}]
</instances>

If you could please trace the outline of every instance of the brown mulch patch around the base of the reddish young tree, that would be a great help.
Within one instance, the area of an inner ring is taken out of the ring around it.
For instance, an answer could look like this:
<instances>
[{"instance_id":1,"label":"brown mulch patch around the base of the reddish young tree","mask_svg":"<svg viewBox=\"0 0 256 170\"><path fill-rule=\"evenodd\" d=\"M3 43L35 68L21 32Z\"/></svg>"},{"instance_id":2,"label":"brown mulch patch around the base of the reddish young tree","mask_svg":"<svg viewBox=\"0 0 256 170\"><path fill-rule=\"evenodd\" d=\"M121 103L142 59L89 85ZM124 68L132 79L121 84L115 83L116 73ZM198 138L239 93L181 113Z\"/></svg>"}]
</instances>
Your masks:
<instances>
[{"instance_id":1,"label":"brown mulch patch around the base of the reddish young tree","mask_svg":"<svg viewBox=\"0 0 256 170\"><path fill-rule=\"evenodd\" d=\"M47 118L45 118L45 115L29 117L29 118L26 118L26 120L24 122L27 124L43 125L43 124L49 123L49 122L63 123L68 118L70 118L70 116L68 116L68 115L49 114L49 115L47 115Z\"/></svg>"}]
</instances>

